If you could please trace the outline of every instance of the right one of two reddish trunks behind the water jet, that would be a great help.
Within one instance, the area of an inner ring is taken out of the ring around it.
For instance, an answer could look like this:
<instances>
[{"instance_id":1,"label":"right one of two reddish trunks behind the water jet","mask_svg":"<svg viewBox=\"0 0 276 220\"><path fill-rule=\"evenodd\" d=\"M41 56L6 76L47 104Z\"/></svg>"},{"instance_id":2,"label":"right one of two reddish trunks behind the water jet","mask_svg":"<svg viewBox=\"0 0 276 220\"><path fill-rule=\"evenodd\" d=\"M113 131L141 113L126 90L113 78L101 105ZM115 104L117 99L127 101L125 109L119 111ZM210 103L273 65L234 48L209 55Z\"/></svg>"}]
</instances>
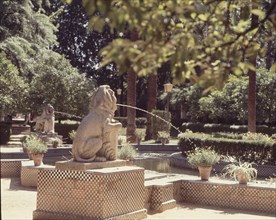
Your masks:
<instances>
[{"instance_id":1,"label":"right one of two reddish trunks behind the water jet","mask_svg":"<svg viewBox=\"0 0 276 220\"><path fill-rule=\"evenodd\" d=\"M151 74L148 77L148 100L147 100L147 111L151 112L156 108L156 96L157 96L157 75ZM147 114L147 129L145 140L152 139L152 121L151 115Z\"/></svg>"}]
</instances>

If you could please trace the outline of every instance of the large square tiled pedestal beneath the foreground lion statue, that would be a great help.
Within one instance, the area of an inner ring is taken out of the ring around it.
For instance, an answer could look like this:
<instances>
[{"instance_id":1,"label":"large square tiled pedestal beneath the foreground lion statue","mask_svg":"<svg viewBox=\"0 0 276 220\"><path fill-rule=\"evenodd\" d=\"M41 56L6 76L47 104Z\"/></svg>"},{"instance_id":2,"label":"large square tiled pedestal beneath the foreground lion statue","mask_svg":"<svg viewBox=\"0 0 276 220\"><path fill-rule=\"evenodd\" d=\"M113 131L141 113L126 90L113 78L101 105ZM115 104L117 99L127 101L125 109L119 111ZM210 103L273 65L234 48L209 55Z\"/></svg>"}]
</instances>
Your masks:
<instances>
[{"instance_id":1,"label":"large square tiled pedestal beneath the foreground lion statue","mask_svg":"<svg viewBox=\"0 0 276 220\"><path fill-rule=\"evenodd\" d=\"M142 219L144 169L39 170L33 219Z\"/></svg>"}]
</instances>

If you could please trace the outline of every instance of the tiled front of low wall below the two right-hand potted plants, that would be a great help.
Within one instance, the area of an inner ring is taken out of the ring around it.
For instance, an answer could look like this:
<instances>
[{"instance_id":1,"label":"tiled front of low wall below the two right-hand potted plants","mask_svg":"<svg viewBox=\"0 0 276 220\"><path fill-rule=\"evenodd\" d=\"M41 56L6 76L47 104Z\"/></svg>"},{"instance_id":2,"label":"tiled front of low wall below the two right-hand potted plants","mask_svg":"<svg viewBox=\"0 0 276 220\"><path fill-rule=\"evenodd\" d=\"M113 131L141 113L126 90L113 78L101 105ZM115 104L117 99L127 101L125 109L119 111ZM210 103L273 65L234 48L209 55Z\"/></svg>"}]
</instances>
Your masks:
<instances>
[{"instance_id":1,"label":"tiled front of low wall below the two right-hand potted plants","mask_svg":"<svg viewBox=\"0 0 276 220\"><path fill-rule=\"evenodd\" d=\"M276 189L271 188L183 180L181 197L183 202L276 215Z\"/></svg>"}]
</instances>

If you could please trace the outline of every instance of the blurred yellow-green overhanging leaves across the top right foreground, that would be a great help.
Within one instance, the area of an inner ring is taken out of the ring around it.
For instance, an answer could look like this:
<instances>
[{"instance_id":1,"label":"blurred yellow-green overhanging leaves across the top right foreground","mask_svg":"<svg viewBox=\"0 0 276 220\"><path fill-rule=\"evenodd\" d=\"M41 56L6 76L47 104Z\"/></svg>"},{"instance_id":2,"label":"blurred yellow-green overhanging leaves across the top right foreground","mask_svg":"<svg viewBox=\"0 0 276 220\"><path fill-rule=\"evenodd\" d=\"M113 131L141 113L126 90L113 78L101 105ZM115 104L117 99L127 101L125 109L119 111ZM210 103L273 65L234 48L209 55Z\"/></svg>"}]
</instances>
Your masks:
<instances>
[{"instance_id":1,"label":"blurred yellow-green overhanging leaves across the top right foreground","mask_svg":"<svg viewBox=\"0 0 276 220\"><path fill-rule=\"evenodd\" d=\"M265 57L275 35L275 1L82 2L90 28L102 31L107 24L118 33L138 35L134 40L117 38L106 46L103 66L115 62L120 73L133 69L145 76L169 62L175 83L188 78L222 87L229 73L240 76L255 70L252 59ZM270 61L273 66L275 60Z\"/></svg>"}]
</instances>

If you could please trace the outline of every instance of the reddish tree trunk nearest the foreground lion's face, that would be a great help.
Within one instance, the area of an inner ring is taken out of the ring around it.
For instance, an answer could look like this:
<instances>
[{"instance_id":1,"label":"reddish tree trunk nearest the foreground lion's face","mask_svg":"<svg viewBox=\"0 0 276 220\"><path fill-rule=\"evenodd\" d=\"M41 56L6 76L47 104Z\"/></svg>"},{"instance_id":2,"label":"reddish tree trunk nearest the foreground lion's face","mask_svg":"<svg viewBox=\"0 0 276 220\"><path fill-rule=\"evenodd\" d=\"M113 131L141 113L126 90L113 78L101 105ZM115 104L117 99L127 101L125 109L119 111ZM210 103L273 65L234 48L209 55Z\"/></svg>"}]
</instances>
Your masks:
<instances>
[{"instance_id":1,"label":"reddish tree trunk nearest the foreground lion's face","mask_svg":"<svg viewBox=\"0 0 276 220\"><path fill-rule=\"evenodd\" d=\"M138 38L138 33L134 29L131 32L131 40L135 41ZM133 69L127 73L127 104L136 107L136 79L137 74ZM130 143L136 142L135 130L136 130L136 109L127 108L127 141Z\"/></svg>"}]
</instances>

